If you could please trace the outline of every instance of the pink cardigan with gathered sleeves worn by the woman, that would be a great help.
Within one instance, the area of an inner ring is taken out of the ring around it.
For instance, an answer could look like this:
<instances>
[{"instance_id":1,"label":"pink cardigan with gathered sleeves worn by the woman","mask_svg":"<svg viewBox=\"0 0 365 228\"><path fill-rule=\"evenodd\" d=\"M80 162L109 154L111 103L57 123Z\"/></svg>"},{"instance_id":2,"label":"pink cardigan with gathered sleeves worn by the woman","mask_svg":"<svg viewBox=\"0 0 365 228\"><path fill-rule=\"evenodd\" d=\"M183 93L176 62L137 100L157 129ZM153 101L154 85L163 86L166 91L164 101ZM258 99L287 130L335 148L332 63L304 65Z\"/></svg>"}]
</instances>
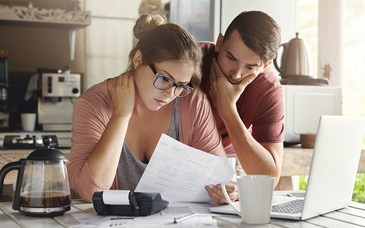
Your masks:
<instances>
[{"instance_id":1,"label":"pink cardigan with gathered sleeves worn by the woman","mask_svg":"<svg viewBox=\"0 0 365 228\"><path fill-rule=\"evenodd\" d=\"M94 192L118 189L116 174L111 185L101 185L93 177L86 161L111 118L112 105L106 81L82 93L74 102L73 108L68 179L77 195L87 202L92 202ZM205 94L196 88L187 97L178 99L180 142L216 156L226 157Z\"/></svg>"}]
</instances>

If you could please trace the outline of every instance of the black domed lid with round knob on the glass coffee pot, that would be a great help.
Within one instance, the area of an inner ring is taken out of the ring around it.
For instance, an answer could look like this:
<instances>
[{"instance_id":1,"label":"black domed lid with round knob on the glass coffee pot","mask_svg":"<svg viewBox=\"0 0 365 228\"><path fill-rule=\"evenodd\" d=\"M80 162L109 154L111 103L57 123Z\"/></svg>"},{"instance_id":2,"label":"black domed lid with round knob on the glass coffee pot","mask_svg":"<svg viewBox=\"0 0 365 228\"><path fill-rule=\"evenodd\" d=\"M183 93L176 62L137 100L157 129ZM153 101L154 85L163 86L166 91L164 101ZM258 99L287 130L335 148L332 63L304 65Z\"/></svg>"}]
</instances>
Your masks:
<instances>
[{"instance_id":1,"label":"black domed lid with round knob on the glass coffee pot","mask_svg":"<svg viewBox=\"0 0 365 228\"><path fill-rule=\"evenodd\" d=\"M49 145L52 139L49 136L45 136L42 139L44 147L38 148L31 152L26 160L31 161L61 161L67 160L66 156L57 149L50 148Z\"/></svg>"}]
</instances>

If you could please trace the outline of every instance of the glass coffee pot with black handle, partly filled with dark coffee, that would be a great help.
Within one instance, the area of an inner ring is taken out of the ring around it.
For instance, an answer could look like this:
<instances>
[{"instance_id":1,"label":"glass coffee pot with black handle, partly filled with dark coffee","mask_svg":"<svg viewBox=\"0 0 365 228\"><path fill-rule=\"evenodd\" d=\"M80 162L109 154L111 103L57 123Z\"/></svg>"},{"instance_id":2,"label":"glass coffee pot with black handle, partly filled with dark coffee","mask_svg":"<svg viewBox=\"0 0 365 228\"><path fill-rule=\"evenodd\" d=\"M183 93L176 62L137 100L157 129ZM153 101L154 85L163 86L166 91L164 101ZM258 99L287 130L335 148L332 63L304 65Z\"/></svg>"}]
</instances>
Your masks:
<instances>
[{"instance_id":1,"label":"glass coffee pot with black handle, partly filled with dark coffee","mask_svg":"<svg viewBox=\"0 0 365 228\"><path fill-rule=\"evenodd\" d=\"M65 164L67 158L50 148L51 138L43 139L43 148L31 152L26 159L11 162L0 171L0 200L5 175L17 170L12 209L27 216L54 217L71 209L71 196Z\"/></svg>"}]
</instances>

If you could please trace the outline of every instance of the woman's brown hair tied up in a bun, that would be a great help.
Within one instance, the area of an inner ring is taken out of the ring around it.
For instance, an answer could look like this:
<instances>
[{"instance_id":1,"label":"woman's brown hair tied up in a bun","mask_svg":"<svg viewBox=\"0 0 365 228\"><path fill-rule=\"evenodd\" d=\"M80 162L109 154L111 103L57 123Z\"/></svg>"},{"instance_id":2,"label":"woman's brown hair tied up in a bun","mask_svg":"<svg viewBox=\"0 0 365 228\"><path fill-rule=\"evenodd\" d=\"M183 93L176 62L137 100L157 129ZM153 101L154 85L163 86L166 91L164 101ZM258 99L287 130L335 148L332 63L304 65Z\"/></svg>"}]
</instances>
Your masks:
<instances>
[{"instance_id":1,"label":"woman's brown hair tied up in a bun","mask_svg":"<svg viewBox=\"0 0 365 228\"><path fill-rule=\"evenodd\" d=\"M133 27L134 36L139 39L129 53L128 68L135 71L133 57L137 50L142 53L142 64L148 65L165 60L176 61L193 70L191 82L200 84L202 51L195 38L177 24L167 22L164 16L141 15Z\"/></svg>"}]
</instances>

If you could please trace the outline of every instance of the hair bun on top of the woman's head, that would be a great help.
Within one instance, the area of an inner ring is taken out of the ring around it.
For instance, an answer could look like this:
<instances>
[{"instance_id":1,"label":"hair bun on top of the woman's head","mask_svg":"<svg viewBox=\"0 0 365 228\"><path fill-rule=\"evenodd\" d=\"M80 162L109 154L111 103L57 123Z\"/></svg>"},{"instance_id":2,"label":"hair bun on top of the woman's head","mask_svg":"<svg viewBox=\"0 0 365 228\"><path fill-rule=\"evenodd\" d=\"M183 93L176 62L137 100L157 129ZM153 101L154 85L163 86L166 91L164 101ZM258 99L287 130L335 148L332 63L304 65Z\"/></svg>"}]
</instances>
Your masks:
<instances>
[{"instance_id":1,"label":"hair bun on top of the woman's head","mask_svg":"<svg viewBox=\"0 0 365 228\"><path fill-rule=\"evenodd\" d=\"M167 18L164 15L154 14L141 15L133 27L133 33L135 38L140 39L145 33L147 33L152 28L167 23Z\"/></svg>"}]
</instances>

